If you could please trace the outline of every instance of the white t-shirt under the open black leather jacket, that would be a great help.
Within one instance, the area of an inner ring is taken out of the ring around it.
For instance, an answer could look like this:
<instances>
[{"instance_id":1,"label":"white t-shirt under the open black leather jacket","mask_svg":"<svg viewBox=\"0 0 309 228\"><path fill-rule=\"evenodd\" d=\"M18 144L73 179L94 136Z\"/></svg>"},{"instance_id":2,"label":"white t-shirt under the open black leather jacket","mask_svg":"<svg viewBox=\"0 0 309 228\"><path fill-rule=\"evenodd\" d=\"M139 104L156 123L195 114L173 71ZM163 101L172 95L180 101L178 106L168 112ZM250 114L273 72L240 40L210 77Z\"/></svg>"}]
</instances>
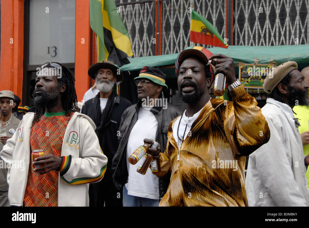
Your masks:
<instances>
[{"instance_id":1,"label":"white t-shirt under the open black leather jacket","mask_svg":"<svg viewBox=\"0 0 309 228\"><path fill-rule=\"evenodd\" d=\"M129 135L126 151L129 182L125 184L125 187L128 189L128 195L159 200L159 178L152 174L150 168L145 175L138 173L136 170L140 161L135 165L128 161L134 150L144 144L144 138L155 139L158 121L155 115L150 112L152 107L141 106L138 111L138 120Z\"/></svg>"}]
</instances>

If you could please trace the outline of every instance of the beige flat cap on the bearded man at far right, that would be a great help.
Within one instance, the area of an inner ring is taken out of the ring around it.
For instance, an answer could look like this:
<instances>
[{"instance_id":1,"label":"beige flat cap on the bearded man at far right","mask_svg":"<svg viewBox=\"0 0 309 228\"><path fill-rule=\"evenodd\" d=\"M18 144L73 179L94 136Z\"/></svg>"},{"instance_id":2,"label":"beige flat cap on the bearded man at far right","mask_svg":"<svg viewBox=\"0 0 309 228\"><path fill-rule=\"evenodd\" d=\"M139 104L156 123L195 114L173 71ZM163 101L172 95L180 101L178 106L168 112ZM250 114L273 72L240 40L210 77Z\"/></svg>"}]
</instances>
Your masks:
<instances>
[{"instance_id":1,"label":"beige flat cap on the bearded man at far right","mask_svg":"<svg viewBox=\"0 0 309 228\"><path fill-rule=\"evenodd\" d=\"M297 63L294 61L284 62L271 69L263 83L264 91L271 93L279 82L294 69L297 69Z\"/></svg>"}]
</instances>

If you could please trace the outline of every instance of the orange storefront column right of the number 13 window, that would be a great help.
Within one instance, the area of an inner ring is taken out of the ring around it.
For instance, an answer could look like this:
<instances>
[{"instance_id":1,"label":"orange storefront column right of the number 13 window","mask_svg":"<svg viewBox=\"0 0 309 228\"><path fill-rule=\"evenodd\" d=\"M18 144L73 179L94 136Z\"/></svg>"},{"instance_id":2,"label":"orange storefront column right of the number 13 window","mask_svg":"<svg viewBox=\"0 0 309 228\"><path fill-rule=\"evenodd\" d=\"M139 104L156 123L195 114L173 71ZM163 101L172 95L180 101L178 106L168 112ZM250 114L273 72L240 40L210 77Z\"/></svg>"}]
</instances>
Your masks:
<instances>
[{"instance_id":1,"label":"orange storefront column right of the number 13 window","mask_svg":"<svg viewBox=\"0 0 309 228\"><path fill-rule=\"evenodd\" d=\"M75 89L77 100L82 101L90 86L90 18L89 0L76 1L75 23Z\"/></svg>"}]
</instances>

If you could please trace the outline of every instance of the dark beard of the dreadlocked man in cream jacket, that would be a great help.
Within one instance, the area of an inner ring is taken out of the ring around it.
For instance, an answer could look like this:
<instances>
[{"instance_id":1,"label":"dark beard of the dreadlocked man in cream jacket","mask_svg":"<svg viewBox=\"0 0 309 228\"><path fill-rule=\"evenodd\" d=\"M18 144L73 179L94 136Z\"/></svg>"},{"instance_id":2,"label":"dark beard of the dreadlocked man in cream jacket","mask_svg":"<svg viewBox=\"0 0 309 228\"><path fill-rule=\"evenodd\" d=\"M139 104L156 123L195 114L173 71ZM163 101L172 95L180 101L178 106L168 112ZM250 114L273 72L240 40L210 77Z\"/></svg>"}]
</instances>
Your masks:
<instances>
[{"instance_id":1,"label":"dark beard of the dreadlocked man in cream jacket","mask_svg":"<svg viewBox=\"0 0 309 228\"><path fill-rule=\"evenodd\" d=\"M36 91L42 91L42 92L40 94L36 94ZM34 106L41 109L45 109L46 107L48 108L56 107L59 102L59 91L60 88L57 88L56 90L53 90L50 93L47 93L46 90L41 90L40 88L35 89L32 93Z\"/></svg>"}]
</instances>

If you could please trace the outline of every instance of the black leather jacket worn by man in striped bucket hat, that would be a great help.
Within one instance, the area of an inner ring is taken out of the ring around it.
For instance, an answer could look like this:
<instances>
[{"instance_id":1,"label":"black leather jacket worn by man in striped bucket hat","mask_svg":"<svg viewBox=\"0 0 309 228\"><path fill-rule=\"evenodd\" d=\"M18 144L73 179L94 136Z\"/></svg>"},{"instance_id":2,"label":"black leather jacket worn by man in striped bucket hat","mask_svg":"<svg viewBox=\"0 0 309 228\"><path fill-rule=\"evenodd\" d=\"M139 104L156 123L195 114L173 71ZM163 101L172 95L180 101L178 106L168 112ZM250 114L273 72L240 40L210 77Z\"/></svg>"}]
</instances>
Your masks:
<instances>
[{"instance_id":1,"label":"black leather jacket worn by man in striped bucket hat","mask_svg":"<svg viewBox=\"0 0 309 228\"><path fill-rule=\"evenodd\" d=\"M162 96L162 95L160 95ZM160 98L160 97L159 97ZM134 104L127 108L121 117L120 124L120 141L116 155L113 158L112 162L112 171L113 171L113 181L119 190L123 187L128 179L128 169L127 169L127 155L126 155L126 146L129 135L136 121L138 120L138 110L142 105L142 101L139 100L137 104ZM162 107L153 107L150 109L156 119L158 120L158 128L156 129L155 141L159 142L161 145L161 153L164 153L167 145L167 132L168 127L172 120L177 116L180 116L182 112L167 103L167 109ZM141 142L141 145L143 142ZM133 152L133 151L132 151ZM163 197L167 191L167 187L170 181L171 174L164 175L164 179L159 179L159 197Z\"/></svg>"}]
</instances>

